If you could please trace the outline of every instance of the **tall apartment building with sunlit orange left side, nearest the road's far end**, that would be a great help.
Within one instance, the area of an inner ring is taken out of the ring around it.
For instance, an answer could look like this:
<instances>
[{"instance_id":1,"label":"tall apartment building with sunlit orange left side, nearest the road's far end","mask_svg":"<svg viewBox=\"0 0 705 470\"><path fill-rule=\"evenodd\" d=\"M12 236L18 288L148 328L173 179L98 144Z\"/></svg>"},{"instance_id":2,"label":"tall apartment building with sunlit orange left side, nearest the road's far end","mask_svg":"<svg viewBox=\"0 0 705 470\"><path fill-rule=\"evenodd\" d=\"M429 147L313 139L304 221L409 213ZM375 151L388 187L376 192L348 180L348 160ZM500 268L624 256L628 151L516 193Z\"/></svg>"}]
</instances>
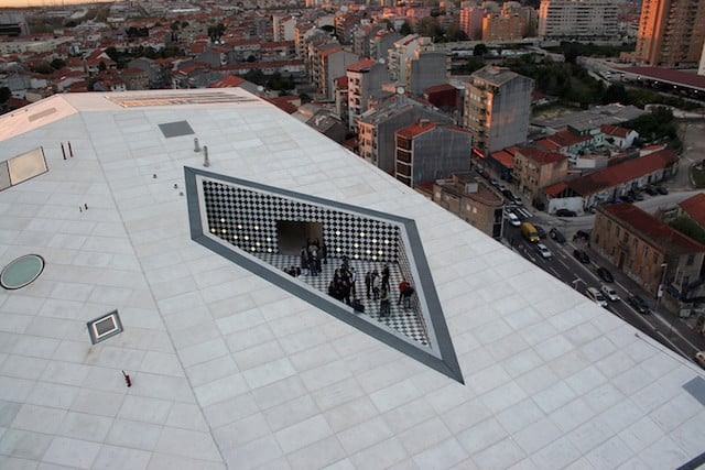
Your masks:
<instances>
[{"instance_id":1,"label":"tall apartment building with sunlit orange left side, nearest the road's far end","mask_svg":"<svg viewBox=\"0 0 705 470\"><path fill-rule=\"evenodd\" d=\"M482 155L527 140L533 80L506 67L488 65L465 85L464 125Z\"/></svg>"}]
</instances>

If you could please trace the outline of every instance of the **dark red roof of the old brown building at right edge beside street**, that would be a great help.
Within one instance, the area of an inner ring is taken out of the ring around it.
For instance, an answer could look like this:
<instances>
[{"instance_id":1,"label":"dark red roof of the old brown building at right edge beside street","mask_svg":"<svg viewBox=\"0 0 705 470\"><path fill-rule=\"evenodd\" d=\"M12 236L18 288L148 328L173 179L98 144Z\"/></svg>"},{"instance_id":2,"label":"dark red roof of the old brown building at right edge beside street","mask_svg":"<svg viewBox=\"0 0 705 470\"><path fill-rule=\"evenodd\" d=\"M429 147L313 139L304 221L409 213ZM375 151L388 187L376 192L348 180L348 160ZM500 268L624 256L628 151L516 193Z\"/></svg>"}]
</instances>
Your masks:
<instances>
[{"instance_id":1,"label":"dark red roof of the old brown building at right edge beside street","mask_svg":"<svg viewBox=\"0 0 705 470\"><path fill-rule=\"evenodd\" d=\"M634 232L650 240L654 244L676 253L699 253L705 251L705 244L698 243L680 231L672 229L654 219L637 206L628 203L608 204L597 210L605 211L629 225Z\"/></svg>"}]
</instances>

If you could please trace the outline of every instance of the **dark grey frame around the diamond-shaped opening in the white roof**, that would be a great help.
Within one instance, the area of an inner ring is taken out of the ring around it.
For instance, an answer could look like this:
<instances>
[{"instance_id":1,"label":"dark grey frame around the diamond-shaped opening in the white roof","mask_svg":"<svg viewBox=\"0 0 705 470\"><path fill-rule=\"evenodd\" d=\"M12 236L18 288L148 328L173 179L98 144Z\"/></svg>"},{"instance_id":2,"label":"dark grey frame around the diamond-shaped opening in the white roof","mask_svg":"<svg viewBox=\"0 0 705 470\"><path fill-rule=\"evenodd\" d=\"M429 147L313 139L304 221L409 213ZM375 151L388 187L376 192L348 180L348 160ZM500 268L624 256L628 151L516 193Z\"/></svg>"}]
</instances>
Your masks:
<instances>
[{"instance_id":1,"label":"dark grey frame around the diamond-shaped opening in the white roof","mask_svg":"<svg viewBox=\"0 0 705 470\"><path fill-rule=\"evenodd\" d=\"M349 306L328 297L324 293L314 292L312 288L304 286L292 276L283 272L280 273L273 267L265 266L263 262L256 260L254 256L239 250L238 248L234 245L226 245L221 241L215 240L207 230L204 231L198 192L199 176L226 184L230 183L243 186L252 190L275 194L280 197L301 199L326 208L369 216L391 221L403 227L409 239L408 255L414 261L417 278L421 283L421 285L417 286L417 291L419 287L421 287L425 299L426 311L429 313L429 320L432 324L429 326L429 335L434 337L435 341L432 341L432 343L437 345L437 350L431 350L422 345L416 345L403 335L389 328L383 328L380 324L375 320L370 321L364 315L356 314ZM358 330L417 360L419 362L422 362L444 375L447 375L459 383L465 383L414 220L188 166L184 166L184 179L186 185L191 238L196 243L199 243L208 250L232 261L251 273L275 283L279 287L288 291L299 298L308 302L337 319L345 321Z\"/></svg>"}]
</instances>

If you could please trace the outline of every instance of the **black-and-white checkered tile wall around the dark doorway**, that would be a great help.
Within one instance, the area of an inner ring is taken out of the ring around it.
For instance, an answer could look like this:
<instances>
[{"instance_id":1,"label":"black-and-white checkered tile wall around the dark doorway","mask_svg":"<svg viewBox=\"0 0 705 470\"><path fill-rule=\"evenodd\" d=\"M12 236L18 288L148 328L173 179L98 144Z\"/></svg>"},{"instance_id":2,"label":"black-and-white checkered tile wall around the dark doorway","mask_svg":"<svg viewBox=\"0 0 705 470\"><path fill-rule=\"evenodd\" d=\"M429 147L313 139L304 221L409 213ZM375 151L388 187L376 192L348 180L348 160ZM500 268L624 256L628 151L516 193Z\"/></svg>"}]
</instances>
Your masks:
<instances>
[{"instance_id":1,"label":"black-and-white checkered tile wall around the dark doorway","mask_svg":"<svg viewBox=\"0 0 705 470\"><path fill-rule=\"evenodd\" d=\"M237 185L207 179L203 184L210 233L251 254L280 252L278 221L306 221L322 225L329 256L408 263L400 228L388 221ZM403 271L409 271L408 264Z\"/></svg>"}]
</instances>

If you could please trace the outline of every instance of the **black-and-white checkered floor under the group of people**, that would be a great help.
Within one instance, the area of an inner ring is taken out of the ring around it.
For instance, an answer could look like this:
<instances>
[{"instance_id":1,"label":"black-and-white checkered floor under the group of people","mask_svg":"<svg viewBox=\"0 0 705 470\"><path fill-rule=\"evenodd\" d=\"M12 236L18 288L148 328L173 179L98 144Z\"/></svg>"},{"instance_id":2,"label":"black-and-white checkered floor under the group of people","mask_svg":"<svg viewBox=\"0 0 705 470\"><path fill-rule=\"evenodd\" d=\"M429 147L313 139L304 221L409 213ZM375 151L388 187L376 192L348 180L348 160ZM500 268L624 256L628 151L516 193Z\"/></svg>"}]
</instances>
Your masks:
<instances>
[{"instance_id":1,"label":"black-and-white checkered floor under the group of people","mask_svg":"<svg viewBox=\"0 0 705 470\"><path fill-rule=\"evenodd\" d=\"M258 253L258 258L280 270L284 270L290 266L299 266L299 256L296 255ZM333 278L335 270L340 267L341 264L340 260L336 258L330 258L327 261L327 264L322 264L322 273L317 276L302 275L302 280L305 281L306 284L324 293L328 292L328 284ZM377 321L393 328L422 345L429 345L429 338L423 320L421 319L421 314L417 311L415 297L411 303L411 308L403 308L403 305L397 305L397 300L399 299L399 289L397 286L401 282L399 267L395 264L390 263L389 284L391 286L391 314L386 317L380 317L379 300L375 300L371 297L368 298L365 292L365 273L375 269L377 269L378 272L381 272L382 265L379 263L358 260L350 260L349 265L355 267L355 271L357 272L355 288L358 299L362 305L365 305L365 313L362 315L368 315Z\"/></svg>"}]
</instances>

